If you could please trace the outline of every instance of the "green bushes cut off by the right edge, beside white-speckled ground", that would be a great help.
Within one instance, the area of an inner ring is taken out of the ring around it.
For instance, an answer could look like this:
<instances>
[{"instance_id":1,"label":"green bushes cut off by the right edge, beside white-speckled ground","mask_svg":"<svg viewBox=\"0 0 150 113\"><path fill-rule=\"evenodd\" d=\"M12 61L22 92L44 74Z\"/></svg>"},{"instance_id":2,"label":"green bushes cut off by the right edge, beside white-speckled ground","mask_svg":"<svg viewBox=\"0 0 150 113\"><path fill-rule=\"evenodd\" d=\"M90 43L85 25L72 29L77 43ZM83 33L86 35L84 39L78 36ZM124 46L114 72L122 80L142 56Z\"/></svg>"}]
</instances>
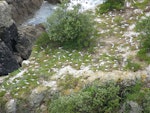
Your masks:
<instances>
[{"instance_id":1,"label":"green bushes cut off by the right edge, beside white-speckled ground","mask_svg":"<svg viewBox=\"0 0 150 113\"><path fill-rule=\"evenodd\" d=\"M141 33L141 46L137 55L140 60L150 63L150 17L139 21L136 25L136 30Z\"/></svg>"}]
</instances>

